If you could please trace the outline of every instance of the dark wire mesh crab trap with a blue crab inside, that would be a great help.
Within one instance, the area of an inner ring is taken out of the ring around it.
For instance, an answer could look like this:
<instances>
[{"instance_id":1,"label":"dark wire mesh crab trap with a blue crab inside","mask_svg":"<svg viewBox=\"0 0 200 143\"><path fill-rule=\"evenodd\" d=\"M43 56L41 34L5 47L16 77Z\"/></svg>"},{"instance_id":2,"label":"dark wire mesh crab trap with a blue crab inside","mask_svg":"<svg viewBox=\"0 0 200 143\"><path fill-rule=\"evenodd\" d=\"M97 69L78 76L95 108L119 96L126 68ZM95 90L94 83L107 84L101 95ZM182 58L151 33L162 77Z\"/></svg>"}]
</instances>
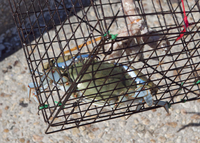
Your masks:
<instances>
[{"instance_id":1,"label":"dark wire mesh crab trap with a blue crab inside","mask_svg":"<svg viewBox=\"0 0 200 143\"><path fill-rule=\"evenodd\" d=\"M199 99L199 0L9 0L46 133Z\"/></svg>"}]
</instances>

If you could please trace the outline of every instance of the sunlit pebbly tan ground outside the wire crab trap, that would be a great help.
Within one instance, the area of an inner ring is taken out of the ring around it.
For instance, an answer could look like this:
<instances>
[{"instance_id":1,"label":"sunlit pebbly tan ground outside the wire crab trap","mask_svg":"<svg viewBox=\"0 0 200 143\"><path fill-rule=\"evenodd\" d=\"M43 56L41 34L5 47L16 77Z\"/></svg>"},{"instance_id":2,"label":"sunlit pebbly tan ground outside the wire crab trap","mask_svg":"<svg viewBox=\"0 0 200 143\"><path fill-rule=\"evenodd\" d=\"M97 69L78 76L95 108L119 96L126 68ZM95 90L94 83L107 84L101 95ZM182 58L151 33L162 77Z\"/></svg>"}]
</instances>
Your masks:
<instances>
[{"instance_id":1,"label":"sunlit pebbly tan ground outside the wire crab trap","mask_svg":"<svg viewBox=\"0 0 200 143\"><path fill-rule=\"evenodd\" d=\"M159 108L45 134L38 104L28 101L30 82L23 49L0 62L0 143L200 143L199 100L173 105L170 114Z\"/></svg>"}]
</instances>

